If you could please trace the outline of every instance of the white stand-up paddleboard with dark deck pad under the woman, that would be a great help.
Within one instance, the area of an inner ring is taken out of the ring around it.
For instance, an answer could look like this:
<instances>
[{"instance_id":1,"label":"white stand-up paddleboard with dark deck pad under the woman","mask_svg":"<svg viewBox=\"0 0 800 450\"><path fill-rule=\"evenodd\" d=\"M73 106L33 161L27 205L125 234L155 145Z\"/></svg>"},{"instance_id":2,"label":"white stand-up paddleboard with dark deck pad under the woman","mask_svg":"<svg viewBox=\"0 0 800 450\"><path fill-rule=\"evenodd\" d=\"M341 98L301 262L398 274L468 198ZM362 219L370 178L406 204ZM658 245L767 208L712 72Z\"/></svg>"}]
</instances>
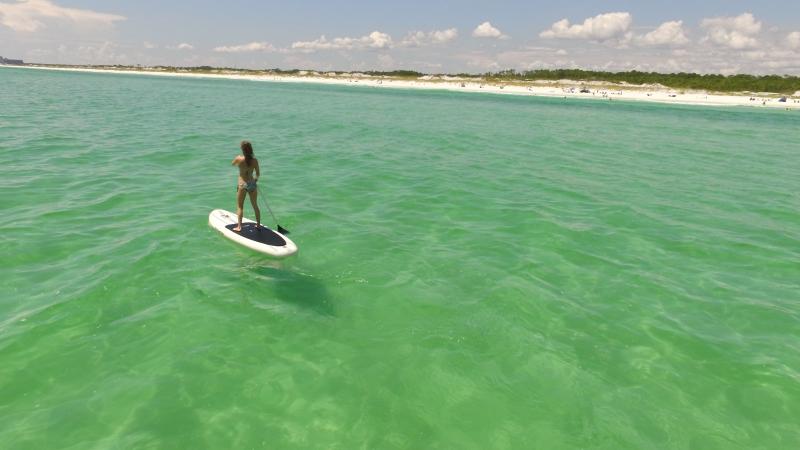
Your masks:
<instances>
[{"instance_id":1,"label":"white stand-up paddleboard with dark deck pad under the woman","mask_svg":"<svg viewBox=\"0 0 800 450\"><path fill-rule=\"evenodd\" d=\"M233 242L266 255L285 258L297 253L297 246L291 239L264 225L257 227L250 219L242 218L242 231L233 231L236 227L236 213L224 209L211 211L208 224Z\"/></svg>"}]
</instances>

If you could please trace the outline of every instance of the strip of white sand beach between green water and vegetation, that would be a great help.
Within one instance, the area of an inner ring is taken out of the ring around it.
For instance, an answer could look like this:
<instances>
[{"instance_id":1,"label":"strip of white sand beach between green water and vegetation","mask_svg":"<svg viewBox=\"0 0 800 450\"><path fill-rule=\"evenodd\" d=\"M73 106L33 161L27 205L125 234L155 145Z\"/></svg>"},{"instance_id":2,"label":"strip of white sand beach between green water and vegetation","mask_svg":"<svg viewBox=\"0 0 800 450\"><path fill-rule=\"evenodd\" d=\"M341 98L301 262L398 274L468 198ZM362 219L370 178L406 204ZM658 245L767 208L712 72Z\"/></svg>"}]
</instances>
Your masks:
<instances>
[{"instance_id":1,"label":"strip of white sand beach between green water and vegetation","mask_svg":"<svg viewBox=\"0 0 800 450\"><path fill-rule=\"evenodd\" d=\"M611 83L589 81L497 81L484 79L467 79L458 77L425 76L417 79L395 78L386 76L369 76L358 73L329 75L313 72L301 72L299 75L279 74L240 74L228 73L191 73L159 70L131 69L95 69L89 67L51 67L26 64L24 66L3 66L20 69L54 70L64 72L111 73L131 75L153 75L165 77L232 79L261 82L283 83L315 83L332 85L357 85L374 88L401 89L439 89L455 92L489 93L521 96L583 98L598 101L632 100L664 104L699 105L699 106L749 106L757 108L800 110L800 99L785 98L785 102L776 97L763 94L720 94L706 92L679 92L664 86L637 86L628 84L613 85Z\"/></svg>"}]
</instances>

